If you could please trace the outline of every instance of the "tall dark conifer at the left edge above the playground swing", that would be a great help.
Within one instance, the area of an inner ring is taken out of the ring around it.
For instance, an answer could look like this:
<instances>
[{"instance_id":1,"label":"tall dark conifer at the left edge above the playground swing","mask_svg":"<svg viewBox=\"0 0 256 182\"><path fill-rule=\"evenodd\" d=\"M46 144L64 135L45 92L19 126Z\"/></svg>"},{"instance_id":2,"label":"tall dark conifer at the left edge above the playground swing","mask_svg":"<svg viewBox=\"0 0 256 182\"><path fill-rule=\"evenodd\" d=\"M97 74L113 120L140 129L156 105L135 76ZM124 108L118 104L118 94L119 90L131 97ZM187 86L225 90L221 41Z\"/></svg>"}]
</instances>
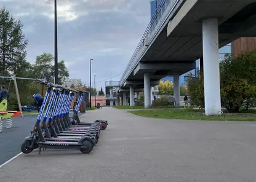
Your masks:
<instances>
[{"instance_id":1,"label":"tall dark conifer at the left edge above the playground swing","mask_svg":"<svg viewBox=\"0 0 256 182\"><path fill-rule=\"evenodd\" d=\"M16 74L20 65L26 62L28 40L22 33L23 24L15 20L4 7L0 9L0 73Z\"/></svg>"}]
</instances>

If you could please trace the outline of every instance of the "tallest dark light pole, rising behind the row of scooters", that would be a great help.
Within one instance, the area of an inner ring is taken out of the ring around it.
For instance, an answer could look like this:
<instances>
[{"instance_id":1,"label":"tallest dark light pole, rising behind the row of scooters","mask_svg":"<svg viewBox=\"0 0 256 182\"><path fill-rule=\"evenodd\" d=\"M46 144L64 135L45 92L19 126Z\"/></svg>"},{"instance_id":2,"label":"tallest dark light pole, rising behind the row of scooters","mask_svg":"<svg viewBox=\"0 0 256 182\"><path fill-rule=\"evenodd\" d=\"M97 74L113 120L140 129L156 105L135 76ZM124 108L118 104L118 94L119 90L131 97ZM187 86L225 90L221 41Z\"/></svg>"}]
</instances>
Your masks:
<instances>
[{"instance_id":1,"label":"tallest dark light pole, rising behind the row of scooters","mask_svg":"<svg viewBox=\"0 0 256 182\"><path fill-rule=\"evenodd\" d=\"M58 84L57 0L54 0L54 83Z\"/></svg>"}]
</instances>

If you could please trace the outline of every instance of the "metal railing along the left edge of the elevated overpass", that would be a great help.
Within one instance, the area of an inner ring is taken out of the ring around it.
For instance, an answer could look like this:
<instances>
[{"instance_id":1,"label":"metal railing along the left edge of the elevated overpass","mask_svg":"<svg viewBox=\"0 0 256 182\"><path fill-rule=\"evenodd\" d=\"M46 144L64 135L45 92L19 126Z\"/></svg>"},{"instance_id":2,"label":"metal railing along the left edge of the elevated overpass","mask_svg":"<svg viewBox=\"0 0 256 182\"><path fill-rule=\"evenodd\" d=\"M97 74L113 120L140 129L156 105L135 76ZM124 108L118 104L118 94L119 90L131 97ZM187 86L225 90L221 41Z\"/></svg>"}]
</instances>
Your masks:
<instances>
[{"instance_id":1,"label":"metal railing along the left edge of the elevated overpass","mask_svg":"<svg viewBox=\"0 0 256 182\"><path fill-rule=\"evenodd\" d=\"M153 37L158 32L159 28L161 28L162 23L165 22L169 12L173 9L174 5L177 4L178 1L180 0L161 0L160 1L156 9L156 12L151 18L151 21L148 24L145 30L145 33L142 36L142 39L138 43L137 48L135 49L134 54L132 55L132 58L130 58L129 63L126 66L124 73L122 74L122 77L120 79L120 86L124 84L124 81L126 81L130 72L137 65L138 61L140 60L140 57L142 56L142 53L151 44Z\"/></svg>"}]
</instances>

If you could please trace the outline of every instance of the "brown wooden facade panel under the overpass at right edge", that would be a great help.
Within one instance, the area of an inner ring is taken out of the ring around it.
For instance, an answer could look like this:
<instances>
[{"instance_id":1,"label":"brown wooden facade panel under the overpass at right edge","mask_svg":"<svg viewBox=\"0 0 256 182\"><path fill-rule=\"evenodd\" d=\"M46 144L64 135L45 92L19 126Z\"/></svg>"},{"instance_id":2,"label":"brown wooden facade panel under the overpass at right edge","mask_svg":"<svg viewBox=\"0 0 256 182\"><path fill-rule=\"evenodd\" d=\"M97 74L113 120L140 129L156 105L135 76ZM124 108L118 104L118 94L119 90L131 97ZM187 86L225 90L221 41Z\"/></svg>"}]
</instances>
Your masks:
<instances>
[{"instance_id":1,"label":"brown wooden facade panel under the overpass at right edge","mask_svg":"<svg viewBox=\"0 0 256 182\"><path fill-rule=\"evenodd\" d=\"M244 52L256 50L256 38L239 38L231 43L231 52L233 57L238 57Z\"/></svg>"}]
</instances>

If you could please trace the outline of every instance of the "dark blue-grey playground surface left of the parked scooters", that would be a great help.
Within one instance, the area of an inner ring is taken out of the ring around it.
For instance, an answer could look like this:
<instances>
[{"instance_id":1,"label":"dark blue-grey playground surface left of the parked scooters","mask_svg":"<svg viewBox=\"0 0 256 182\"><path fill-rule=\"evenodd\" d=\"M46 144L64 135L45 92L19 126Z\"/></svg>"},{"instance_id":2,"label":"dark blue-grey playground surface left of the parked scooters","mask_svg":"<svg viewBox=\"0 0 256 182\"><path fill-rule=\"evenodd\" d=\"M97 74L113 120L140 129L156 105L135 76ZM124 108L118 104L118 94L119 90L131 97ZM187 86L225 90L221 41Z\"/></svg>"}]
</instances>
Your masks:
<instances>
[{"instance_id":1,"label":"dark blue-grey playground surface left of the parked scooters","mask_svg":"<svg viewBox=\"0 0 256 182\"><path fill-rule=\"evenodd\" d=\"M79 113L81 116L83 113ZM73 116L73 113L70 115ZM2 123L0 133L0 165L19 154L20 145L24 138L30 135L36 122L36 114L24 114L23 117L12 118L12 128L6 129L6 122ZM0 180L1 181L1 180Z\"/></svg>"}]
</instances>

